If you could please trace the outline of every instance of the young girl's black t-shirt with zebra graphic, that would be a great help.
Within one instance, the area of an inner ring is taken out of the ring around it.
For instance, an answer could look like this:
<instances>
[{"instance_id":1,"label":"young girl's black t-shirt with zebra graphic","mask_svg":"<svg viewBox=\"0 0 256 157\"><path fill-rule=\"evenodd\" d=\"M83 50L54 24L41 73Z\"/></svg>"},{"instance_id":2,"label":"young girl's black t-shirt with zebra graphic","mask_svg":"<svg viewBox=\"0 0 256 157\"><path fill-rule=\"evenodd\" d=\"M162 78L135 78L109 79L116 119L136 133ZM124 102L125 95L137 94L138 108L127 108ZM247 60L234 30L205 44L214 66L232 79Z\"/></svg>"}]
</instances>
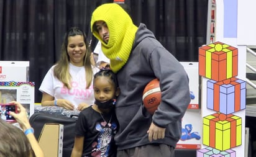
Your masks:
<instances>
[{"instance_id":1,"label":"young girl's black t-shirt with zebra graphic","mask_svg":"<svg viewBox=\"0 0 256 157\"><path fill-rule=\"evenodd\" d=\"M91 106L80 112L76 122L75 135L85 137L83 156L116 156L116 135L118 123L114 112L100 114Z\"/></svg>"}]
</instances>

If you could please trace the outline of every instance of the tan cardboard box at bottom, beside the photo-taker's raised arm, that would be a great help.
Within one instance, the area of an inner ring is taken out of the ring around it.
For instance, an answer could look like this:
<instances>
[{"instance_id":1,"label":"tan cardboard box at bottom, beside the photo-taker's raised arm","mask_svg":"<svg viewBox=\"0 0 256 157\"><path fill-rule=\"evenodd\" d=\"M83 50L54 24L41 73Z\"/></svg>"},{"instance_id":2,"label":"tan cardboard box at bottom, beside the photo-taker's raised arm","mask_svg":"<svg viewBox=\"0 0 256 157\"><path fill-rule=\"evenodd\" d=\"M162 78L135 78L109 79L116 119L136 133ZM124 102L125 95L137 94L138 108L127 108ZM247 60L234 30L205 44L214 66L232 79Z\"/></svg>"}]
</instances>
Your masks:
<instances>
[{"instance_id":1,"label":"tan cardboard box at bottom, beside the photo-taker's raised arm","mask_svg":"<svg viewBox=\"0 0 256 157\"><path fill-rule=\"evenodd\" d=\"M39 145L45 156L62 157L63 125L45 123L39 137Z\"/></svg>"}]
</instances>

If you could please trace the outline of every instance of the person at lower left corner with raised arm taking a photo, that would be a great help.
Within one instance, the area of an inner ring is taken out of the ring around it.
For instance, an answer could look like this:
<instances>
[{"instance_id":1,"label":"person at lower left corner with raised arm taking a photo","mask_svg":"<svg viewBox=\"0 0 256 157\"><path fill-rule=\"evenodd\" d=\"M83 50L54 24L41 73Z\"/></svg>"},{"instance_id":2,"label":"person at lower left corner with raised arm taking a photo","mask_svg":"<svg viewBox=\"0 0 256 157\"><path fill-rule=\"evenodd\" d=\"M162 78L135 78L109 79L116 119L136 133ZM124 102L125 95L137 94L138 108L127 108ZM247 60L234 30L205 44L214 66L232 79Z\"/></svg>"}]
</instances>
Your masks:
<instances>
[{"instance_id":1,"label":"person at lower left corner with raised arm taking a photo","mask_svg":"<svg viewBox=\"0 0 256 157\"><path fill-rule=\"evenodd\" d=\"M10 102L17 106L18 114L9 112L19 123L21 129L0 119L0 156L8 157L43 157L43 151L34 136L25 108L16 101Z\"/></svg>"}]
</instances>

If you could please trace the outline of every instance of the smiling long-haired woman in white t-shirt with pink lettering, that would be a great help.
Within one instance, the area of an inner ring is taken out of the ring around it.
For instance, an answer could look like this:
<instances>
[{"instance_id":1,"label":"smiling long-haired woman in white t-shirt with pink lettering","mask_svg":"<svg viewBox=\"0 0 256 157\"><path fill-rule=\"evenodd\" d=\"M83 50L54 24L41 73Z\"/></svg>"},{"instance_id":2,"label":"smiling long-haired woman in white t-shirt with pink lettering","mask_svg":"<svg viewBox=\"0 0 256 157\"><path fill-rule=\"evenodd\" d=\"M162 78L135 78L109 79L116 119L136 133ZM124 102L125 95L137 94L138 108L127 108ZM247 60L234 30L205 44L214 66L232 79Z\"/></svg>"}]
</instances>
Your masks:
<instances>
[{"instance_id":1,"label":"smiling long-haired woman in white t-shirt with pink lettering","mask_svg":"<svg viewBox=\"0 0 256 157\"><path fill-rule=\"evenodd\" d=\"M48 70L39 91L42 106L60 106L83 110L93 104L93 74L98 68L91 64L91 50L86 35L78 27L66 32L60 60Z\"/></svg>"}]
</instances>

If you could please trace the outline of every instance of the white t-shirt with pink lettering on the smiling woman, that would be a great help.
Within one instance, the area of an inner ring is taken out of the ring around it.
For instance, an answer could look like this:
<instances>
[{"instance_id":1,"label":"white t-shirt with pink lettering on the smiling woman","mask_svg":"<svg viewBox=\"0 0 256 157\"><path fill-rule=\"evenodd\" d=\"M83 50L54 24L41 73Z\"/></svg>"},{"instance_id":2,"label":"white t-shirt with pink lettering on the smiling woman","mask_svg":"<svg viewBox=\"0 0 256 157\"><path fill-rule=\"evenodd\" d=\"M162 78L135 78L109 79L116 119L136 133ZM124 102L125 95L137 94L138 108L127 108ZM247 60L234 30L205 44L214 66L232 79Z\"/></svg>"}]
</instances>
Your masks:
<instances>
[{"instance_id":1,"label":"white t-shirt with pink lettering on the smiling woman","mask_svg":"<svg viewBox=\"0 0 256 157\"><path fill-rule=\"evenodd\" d=\"M39 87L40 92L46 92L55 97L55 99L66 99L75 105L75 108L81 102L85 102L88 105L94 103L93 84L91 84L89 89L86 89L85 68L83 66L78 67L70 63L71 89L63 87L63 83L53 75L54 66L48 70L45 78L43 78L42 84ZM97 71L99 71L98 68L93 68L93 73Z\"/></svg>"}]
</instances>

